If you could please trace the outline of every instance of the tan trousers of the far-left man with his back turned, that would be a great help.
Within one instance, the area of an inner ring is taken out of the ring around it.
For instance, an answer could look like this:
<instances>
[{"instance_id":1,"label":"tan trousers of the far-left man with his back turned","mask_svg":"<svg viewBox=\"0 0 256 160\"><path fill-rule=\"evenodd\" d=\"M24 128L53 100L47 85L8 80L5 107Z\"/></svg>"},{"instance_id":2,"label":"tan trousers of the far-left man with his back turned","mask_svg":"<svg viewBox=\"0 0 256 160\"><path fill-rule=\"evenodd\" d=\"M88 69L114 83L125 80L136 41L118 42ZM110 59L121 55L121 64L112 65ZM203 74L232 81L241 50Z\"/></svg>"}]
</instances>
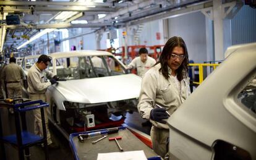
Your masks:
<instances>
[{"instance_id":1,"label":"tan trousers of the far-left man with his back turned","mask_svg":"<svg viewBox=\"0 0 256 160\"><path fill-rule=\"evenodd\" d=\"M22 97L22 86L20 83L7 83L7 94L8 98L20 96Z\"/></svg>"}]
</instances>

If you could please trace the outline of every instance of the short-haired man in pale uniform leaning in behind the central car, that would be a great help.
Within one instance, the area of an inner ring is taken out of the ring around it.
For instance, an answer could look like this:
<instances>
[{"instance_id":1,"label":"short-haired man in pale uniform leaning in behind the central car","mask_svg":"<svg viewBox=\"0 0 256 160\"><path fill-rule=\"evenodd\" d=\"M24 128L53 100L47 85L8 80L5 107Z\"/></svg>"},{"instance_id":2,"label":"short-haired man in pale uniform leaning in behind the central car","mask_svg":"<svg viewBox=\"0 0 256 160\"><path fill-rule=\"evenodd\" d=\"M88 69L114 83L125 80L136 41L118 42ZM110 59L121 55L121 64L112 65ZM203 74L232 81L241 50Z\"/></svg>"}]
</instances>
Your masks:
<instances>
[{"instance_id":1,"label":"short-haired man in pale uniform leaning in behind the central car","mask_svg":"<svg viewBox=\"0 0 256 160\"><path fill-rule=\"evenodd\" d=\"M127 65L127 69L137 69L137 75L143 77L143 75L156 63L155 59L148 56L148 50L146 48L140 48L139 57Z\"/></svg>"}]
</instances>

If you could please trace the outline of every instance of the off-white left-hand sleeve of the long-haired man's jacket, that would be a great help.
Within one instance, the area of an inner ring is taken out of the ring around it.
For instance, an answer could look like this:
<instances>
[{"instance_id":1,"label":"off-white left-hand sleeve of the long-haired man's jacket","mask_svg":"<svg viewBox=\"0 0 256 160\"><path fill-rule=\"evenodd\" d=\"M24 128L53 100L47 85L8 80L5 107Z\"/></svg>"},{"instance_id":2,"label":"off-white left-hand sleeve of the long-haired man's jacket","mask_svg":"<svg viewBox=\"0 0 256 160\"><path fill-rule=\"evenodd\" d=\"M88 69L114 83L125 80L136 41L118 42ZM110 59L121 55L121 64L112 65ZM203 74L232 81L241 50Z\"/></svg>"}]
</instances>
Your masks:
<instances>
[{"instance_id":1,"label":"off-white left-hand sleeve of the long-haired man's jacket","mask_svg":"<svg viewBox=\"0 0 256 160\"><path fill-rule=\"evenodd\" d=\"M146 73L142 78L142 88L140 90L138 111L143 119L150 119L150 112L155 105L157 90L156 76Z\"/></svg>"}]
</instances>

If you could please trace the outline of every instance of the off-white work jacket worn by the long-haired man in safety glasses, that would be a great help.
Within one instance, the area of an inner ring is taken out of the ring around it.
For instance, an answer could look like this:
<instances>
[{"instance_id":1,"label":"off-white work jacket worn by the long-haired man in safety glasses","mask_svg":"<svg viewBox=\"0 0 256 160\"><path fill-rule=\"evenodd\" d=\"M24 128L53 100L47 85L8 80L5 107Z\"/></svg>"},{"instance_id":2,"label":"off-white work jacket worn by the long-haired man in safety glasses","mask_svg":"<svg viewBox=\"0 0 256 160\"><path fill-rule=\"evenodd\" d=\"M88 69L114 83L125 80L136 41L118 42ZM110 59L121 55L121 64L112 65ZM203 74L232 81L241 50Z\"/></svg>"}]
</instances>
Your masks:
<instances>
[{"instance_id":1,"label":"off-white work jacket worn by the long-haired man in safety glasses","mask_svg":"<svg viewBox=\"0 0 256 160\"><path fill-rule=\"evenodd\" d=\"M137 107L143 119L150 119L150 111L156 103L164 107L169 114L173 114L190 95L189 78L181 80L181 90L178 90L171 78L166 80L163 74L159 72L160 67L161 64L155 65L142 78L142 88ZM171 69L169 68L170 75ZM150 120L150 122L158 128L168 129L167 124L161 124L154 120Z\"/></svg>"}]
</instances>

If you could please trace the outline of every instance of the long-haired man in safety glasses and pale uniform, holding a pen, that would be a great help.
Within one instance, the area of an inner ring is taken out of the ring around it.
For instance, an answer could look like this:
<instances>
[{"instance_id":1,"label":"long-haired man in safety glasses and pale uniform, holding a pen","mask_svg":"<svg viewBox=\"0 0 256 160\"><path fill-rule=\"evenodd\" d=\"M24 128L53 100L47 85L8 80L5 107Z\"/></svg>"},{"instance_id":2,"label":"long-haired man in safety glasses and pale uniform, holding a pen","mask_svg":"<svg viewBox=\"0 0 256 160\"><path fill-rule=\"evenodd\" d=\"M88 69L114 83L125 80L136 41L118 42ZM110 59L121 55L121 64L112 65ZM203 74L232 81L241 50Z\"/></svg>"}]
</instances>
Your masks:
<instances>
[{"instance_id":1,"label":"long-haired man in safety glasses and pale uniform, holding a pen","mask_svg":"<svg viewBox=\"0 0 256 160\"><path fill-rule=\"evenodd\" d=\"M162 158L168 156L166 120L190 95L188 63L186 44L174 36L164 45L160 60L142 78L138 110L143 119L150 119L153 150Z\"/></svg>"}]
</instances>

